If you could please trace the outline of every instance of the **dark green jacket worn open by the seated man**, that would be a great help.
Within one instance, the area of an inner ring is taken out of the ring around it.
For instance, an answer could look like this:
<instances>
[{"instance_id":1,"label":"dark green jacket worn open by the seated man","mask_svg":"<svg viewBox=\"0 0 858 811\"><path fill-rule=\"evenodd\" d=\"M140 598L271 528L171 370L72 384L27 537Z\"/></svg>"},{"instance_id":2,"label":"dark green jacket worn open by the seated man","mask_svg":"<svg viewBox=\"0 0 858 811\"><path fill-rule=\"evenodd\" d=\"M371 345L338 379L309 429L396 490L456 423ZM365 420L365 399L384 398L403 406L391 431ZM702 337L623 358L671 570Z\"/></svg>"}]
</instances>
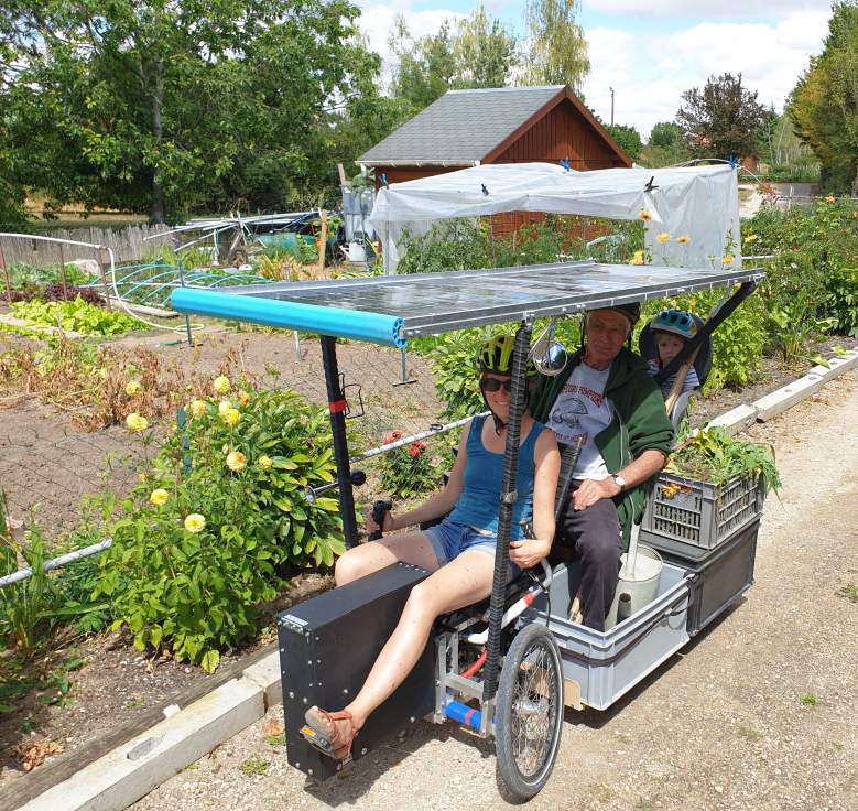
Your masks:
<instances>
[{"instance_id":1,"label":"dark green jacket worn open by the seated man","mask_svg":"<svg viewBox=\"0 0 858 811\"><path fill-rule=\"evenodd\" d=\"M577 352L556 377L541 377L530 396L530 412L534 420L549 424L549 414L572 370L580 363ZM671 452L673 425L664 411L664 397L647 370L647 361L626 347L611 364L605 396L611 406L610 425L596 434L594 441L608 472L621 471L644 451ZM629 547L632 523L639 521L647 502L645 483L630 487L613 498L622 527L622 543Z\"/></svg>"}]
</instances>

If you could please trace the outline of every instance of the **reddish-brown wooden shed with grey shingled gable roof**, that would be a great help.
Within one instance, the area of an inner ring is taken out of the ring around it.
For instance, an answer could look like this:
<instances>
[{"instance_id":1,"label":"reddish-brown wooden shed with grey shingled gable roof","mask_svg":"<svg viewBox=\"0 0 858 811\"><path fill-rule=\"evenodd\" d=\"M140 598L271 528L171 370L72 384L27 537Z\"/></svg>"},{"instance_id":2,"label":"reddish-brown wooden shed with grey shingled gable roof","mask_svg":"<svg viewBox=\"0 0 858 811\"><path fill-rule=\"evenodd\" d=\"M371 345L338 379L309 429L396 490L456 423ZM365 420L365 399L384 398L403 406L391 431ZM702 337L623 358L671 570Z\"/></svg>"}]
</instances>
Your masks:
<instances>
[{"instance_id":1,"label":"reddish-brown wooden shed with grey shingled gable roof","mask_svg":"<svg viewBox=\"0 0 858 811\"><path fill-rule=\"evenodd\" d=\"M558 163L585 171L631 166L631 159L567 85L449 90L356 162L376 185L485 163ZM495 233L541 214L492 217Z\"/></svg>"}]
</instances>

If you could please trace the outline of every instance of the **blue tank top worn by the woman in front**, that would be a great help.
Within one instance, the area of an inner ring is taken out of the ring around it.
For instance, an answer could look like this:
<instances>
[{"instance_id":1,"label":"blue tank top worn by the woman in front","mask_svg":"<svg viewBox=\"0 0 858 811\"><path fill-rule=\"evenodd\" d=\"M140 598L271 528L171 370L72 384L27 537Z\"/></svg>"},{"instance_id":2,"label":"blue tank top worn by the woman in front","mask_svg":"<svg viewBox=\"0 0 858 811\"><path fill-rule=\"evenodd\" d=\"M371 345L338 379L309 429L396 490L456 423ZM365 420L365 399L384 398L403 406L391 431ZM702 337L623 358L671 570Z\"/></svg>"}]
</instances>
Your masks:
<instances>
[{"instance_id":1,"label":"blue tank top worn by the woman in front","mask_svg":"<svg viewBox=\"0 0 858 811\"><path fill-rule=\"evenodd\" d=\"M464 486L448 521L498 533L498 510L500 509L500 485L503 476L503 454L492 453L482 444L482 425L487 417L475 417L468 432ZM515 489L519 497L512 509L510 537L518 540L523 536L522 520L533 516L533 474L536 440L545 426L535 422L528 439L519 446L519 467Z\"/></svg>"}]
</instances>

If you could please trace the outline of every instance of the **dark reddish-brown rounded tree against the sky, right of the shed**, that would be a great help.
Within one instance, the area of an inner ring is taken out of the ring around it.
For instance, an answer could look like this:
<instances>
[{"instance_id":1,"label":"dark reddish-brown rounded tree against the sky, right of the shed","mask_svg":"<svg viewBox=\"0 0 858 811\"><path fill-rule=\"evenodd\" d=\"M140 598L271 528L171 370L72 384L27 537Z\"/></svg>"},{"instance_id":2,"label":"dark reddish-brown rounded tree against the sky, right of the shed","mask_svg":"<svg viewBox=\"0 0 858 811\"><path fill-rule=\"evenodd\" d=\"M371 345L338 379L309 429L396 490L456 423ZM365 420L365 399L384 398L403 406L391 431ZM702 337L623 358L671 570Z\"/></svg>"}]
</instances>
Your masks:
<instances>
[{"instance_id":1,"label":"dark reddish-brown rounded tree against the sky, right of the shed","mask_svg":"<svg viewBox=\"0 0 858 811\"><path fill-rule=\"evenodd\" d=\"M740 158L754 150L765 109L757 93L742 86L741 74L710 76L703 89L686 90L682 98L676 120L695 155Z\"/></svg>"}]
</instances>

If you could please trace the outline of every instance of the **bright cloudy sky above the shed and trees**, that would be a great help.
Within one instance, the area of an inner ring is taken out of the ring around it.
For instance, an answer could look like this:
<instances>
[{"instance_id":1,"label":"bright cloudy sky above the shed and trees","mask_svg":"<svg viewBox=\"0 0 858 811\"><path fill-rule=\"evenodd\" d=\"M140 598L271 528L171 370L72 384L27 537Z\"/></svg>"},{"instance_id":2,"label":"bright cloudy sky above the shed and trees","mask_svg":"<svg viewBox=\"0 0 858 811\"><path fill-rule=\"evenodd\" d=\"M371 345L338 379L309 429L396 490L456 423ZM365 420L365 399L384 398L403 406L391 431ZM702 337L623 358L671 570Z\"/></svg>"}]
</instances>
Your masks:
<instances>
[{"instance_id":1,"label":"bright cloudy sky above the shed and trees","mask_svg":"<svg viewBox=\"0 0 858 811\"><path fill-rule=\"evenodd\" d=\"M465 18L470 0L358 0L370 47L392 64L389 33L403 13L415 36ZM486 0L487 10L524 34L524 0ZM671 121L682 94L708 76L741 73L758 100L780 112L828 30L830 0L584 0L578 23L589 46L584 98L602 121L636 127L644 139Z\"/></svg>"}]
</instances>

